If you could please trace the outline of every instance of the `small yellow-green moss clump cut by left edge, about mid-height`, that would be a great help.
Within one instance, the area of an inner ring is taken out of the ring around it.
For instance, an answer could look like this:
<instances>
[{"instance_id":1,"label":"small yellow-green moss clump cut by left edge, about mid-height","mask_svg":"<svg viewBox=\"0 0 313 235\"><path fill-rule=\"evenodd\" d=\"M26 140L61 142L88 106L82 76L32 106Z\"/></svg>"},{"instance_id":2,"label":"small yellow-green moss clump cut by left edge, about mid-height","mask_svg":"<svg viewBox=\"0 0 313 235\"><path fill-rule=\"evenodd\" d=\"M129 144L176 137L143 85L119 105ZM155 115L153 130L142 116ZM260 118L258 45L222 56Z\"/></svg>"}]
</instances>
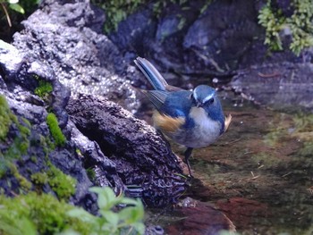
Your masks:
<instances>
[{"instance_id":1,"label":"small yellow-green moss clump cut by left edge, about mid-height","mask_svg":"<svg viewBox=\"0 0 313 235\"><path fill-rule=\"evenodd\" d=\"M4 96L0 96L0 140L4 140L12 123L11 110Z\"/></svg>"}]
</instances>

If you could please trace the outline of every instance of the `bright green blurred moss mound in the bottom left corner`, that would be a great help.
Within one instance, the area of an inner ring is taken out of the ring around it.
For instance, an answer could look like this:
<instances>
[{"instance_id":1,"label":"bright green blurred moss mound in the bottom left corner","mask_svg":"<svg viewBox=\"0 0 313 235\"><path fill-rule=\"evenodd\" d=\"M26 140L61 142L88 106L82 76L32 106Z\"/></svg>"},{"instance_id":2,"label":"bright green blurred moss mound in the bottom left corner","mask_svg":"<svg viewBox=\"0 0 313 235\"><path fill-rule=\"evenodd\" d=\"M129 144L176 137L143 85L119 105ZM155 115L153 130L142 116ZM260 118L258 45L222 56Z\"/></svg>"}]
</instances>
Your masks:
<instances>
[{"instance_id":1,"label":"bright green blurred moss mound in the bottom left corner","mask_svg":"<svg viewBox=\"0 0 313 235\"><path fill-rule=\"evenodd\" d=\"M89 223L67 214L74 208L48 194L0 196L0 234L55 234L69 227L89 234L92 231Z\"/></svg>"}]
</instances>

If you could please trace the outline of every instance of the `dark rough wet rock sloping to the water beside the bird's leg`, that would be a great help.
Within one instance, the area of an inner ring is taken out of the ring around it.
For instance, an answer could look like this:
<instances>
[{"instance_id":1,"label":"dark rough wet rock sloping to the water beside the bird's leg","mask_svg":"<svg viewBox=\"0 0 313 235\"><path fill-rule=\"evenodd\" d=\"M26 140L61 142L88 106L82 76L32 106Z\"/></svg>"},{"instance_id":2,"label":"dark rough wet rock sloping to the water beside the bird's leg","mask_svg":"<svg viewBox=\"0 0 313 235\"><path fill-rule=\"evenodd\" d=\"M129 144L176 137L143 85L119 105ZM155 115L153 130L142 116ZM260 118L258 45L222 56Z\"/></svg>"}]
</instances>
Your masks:
<instances>
[{"instance_id":1,"label":"dark rough wet rock sloping to the water beside the bird's leg","mask_svg":"<svg viewBox=\"0 0 313 235\"><path fill-rule=\"evenodd\" d=\"M102 97L72 98L67 111L80 132L105 154L93 161L106 163L106 175L117 172L123 184L136 186L129 194L143 197L150 206L171 203L182 194L186 183L177 176L182 173L177 157L154 128Z\"/></svg>"}]
</instances>

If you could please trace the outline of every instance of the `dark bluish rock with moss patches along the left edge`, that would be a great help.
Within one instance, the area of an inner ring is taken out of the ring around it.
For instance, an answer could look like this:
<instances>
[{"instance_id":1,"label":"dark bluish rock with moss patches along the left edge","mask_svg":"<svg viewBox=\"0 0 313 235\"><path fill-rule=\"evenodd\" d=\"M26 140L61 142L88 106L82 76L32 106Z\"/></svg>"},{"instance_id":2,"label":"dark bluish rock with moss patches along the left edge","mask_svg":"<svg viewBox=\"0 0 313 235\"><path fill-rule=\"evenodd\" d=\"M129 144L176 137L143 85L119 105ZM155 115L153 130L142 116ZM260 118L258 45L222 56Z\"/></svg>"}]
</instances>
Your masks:
<instances>
[{"instance_id":1,"label":"dark bluish rock with moss patches along the left edge","mask_svg":"<svg viewBox=\"0 0 313 235\"><path fill-rule=\"evenodd\" d=\"M10 52L5 51L5 48L10 48ZM22 191L39 190L60 197L63 192L56 189L59 185L54 188L47 181L38 183L33 178L37 173L48 172L53 165L59 175L64 173L77 180L71 197L72 203L95 211L95 197L88 191L93 183L76 154L76 147L71 141L67 141L63 147L53 147L54 138L47 126L49 106L58 113L59 119L64 122L63 125L66 125L67 113L64 113L64 106L69 97L68 93L61 91L63 86L54 76L49 74L48 77L44 77L44 72L41 71L40 80L50 81L55 91L51 94L51 100L35 95L34 89L38 86L38 79L33 75L37 70L30 69L32 66L25 59L26 56L17 55L22 54L13 46L4 45L0 49L1 71L5 78L1 79L4 85L0 87L0 95L5 100L2 108L5 110L5 103L9 108L1 115L2 118L11 119L11 124L10 122L6 124L9 125L7 127L9 129L5 138L0 139L1 189L9 196Z\"/></svg>"}]
</instances>

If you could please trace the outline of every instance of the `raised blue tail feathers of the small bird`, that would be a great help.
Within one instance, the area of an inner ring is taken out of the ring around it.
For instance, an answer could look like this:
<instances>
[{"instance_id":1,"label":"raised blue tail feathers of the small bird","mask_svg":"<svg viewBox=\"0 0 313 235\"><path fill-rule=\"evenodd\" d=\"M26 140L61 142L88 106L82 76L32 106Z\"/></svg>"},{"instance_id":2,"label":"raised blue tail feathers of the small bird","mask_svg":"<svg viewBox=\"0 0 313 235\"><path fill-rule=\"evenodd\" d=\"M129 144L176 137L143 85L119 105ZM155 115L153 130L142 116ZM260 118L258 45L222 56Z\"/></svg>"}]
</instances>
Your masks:
<instances>
[{"instance_id":1,"label":"raised blue tail feathers of the small bird","mask_svg":"<svg viewBox=\"0 0 313 235\"><path fill-rule=\"evenodd\" d=\"M146 76L153 88L157 90L166 90L166 87L168 86L166 80L152 63L149 63L148 60L141 57L137 57L137 59L134 60L134 63L140 68L140 71Z\"/></svg>"}]
</instances>

